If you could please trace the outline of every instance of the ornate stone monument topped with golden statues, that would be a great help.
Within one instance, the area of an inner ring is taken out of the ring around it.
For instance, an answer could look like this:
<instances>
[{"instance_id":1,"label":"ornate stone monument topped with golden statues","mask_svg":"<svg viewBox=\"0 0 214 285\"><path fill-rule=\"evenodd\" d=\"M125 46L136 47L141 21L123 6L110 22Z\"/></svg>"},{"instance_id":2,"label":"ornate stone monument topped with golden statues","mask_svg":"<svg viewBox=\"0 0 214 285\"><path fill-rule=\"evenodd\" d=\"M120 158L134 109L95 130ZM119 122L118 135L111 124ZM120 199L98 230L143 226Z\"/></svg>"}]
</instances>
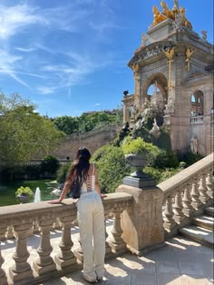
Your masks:
<instances>
[{"instance_id":1,"label":"ornate stone monument topped with golden statues","mask_svg":"<svg viewBox=\"0 0 214 285\"><path fill-rule=\"evenodd\" d=\"M197 153L207 155L213 151L213 44L207 31L200 35L193 31L179 1L171 2L171 8L165 1L160 1L160 7L153 5L153 22L128 64L134 93L123 97L123 122L131 121L141 129L148 114L156 120L155 115L162 113L172 150L196 152L192 142L197 138ZM154 92L149 95L152 85ZM151 133L157 137L158 121L153 122Z\"/></svg>"}]
</instances>

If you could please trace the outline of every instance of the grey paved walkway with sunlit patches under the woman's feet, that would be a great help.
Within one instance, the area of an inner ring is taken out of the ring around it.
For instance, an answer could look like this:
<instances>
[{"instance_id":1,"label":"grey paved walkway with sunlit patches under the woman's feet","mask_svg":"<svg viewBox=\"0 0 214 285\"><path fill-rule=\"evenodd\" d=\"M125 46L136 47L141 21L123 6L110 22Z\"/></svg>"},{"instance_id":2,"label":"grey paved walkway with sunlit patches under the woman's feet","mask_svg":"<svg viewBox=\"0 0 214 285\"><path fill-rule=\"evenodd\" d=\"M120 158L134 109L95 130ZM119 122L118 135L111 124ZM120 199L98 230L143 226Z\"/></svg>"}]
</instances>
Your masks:
<instances>
[{"instance_id":1,"label":"grey paved walkway with sunlit patches under the woman's feet","mask_svg":"<svg viewBox=\"0 0 214 285\"><path fill-rule=\"evenodd\" d=\"M74 236L75 233L73 232ZM52 234L52 245L56 245L61 232ZM31 259L36 256L39 237L28 242ZM181 236L166 241L166 246L151 251L143 257L131 253L115 260L106 261L106 274L97 285L210 285L213 284L213 251L198 242ZM2 244L5 258L4 268L11 266L15 241ZM33 253L33 254L32 254ZM30 260L29 260L30 261ZM31 261L30 261L31 262ZM40 285L90 284L83 280L82 272L76 271L63 278L45 281ZM30 284L29 284L30 285Z\"/></svg>"}]
</instances>

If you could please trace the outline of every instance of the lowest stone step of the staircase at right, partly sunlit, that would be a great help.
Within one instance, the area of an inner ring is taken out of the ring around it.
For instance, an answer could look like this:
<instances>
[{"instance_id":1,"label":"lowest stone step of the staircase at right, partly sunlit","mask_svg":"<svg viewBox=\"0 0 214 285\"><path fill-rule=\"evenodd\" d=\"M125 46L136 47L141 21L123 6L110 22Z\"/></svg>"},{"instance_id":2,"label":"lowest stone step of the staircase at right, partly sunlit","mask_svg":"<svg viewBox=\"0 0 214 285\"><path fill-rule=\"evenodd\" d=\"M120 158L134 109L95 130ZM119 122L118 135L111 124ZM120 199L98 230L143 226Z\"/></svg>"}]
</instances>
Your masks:
<instances>
[{"instance_id":1,"label":"lowest stone step of the staircase at right, partly sunlit","mask_svg":"<svg viewBox=\"0 0 214 285\"><path fill-rule=\"evenodd\" d=\"M204 229L195 225L190 225L180 229L180 234L193 241L205 244L210 248L213 247L213 231Z\"/></svg>"}]
</instances>

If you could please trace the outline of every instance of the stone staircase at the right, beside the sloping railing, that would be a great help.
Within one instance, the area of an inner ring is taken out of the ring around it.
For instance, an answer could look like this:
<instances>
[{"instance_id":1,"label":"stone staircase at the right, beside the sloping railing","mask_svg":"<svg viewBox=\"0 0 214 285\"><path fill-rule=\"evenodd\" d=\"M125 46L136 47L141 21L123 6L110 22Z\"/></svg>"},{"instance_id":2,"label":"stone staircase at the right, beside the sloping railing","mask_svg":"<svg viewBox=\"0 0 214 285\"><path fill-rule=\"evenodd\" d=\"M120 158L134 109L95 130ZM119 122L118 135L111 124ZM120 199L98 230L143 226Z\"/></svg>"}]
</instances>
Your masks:
<instances>
[{"instance_id":1,"label":"stone staircase at the right, beside the sloping railing","mask_svg":"<svg viewBox=\"0 0 214 285\"><path fill-rule=\"evenodd\" d=\"M180 234L193 241L198 241L211 248L214 246L214 207L205 209L204 213L193 218L192 224L180 229Z\"/></svg>"}]
</instances>

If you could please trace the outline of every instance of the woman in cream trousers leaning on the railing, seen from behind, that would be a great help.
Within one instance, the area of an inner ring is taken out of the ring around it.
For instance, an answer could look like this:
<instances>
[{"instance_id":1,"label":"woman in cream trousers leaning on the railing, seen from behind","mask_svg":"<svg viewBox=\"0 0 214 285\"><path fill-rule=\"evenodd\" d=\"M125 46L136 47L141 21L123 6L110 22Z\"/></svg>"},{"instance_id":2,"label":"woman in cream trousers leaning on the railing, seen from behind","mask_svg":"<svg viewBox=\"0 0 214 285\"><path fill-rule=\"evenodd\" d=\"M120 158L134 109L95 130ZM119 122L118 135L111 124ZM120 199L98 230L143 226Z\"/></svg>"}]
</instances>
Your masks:
<instances>
[{"instance_id":1,"label":"woman in cream trousers leaning on the railing, seen from behind","mask_svg":"<svg viewBox=\"0 0 214 285\"><path fill-rule=\"evenodd\" d=\"M95 282L102 280L104 274L105 226L101 198L106 195L101 193L97 170L90 164L90 158L91 153L85 147L78 150L61 197L50 202L62 202L74 181L80 185L77 219L83 248L83 278Z\"/></svg>"}]
</instances>

